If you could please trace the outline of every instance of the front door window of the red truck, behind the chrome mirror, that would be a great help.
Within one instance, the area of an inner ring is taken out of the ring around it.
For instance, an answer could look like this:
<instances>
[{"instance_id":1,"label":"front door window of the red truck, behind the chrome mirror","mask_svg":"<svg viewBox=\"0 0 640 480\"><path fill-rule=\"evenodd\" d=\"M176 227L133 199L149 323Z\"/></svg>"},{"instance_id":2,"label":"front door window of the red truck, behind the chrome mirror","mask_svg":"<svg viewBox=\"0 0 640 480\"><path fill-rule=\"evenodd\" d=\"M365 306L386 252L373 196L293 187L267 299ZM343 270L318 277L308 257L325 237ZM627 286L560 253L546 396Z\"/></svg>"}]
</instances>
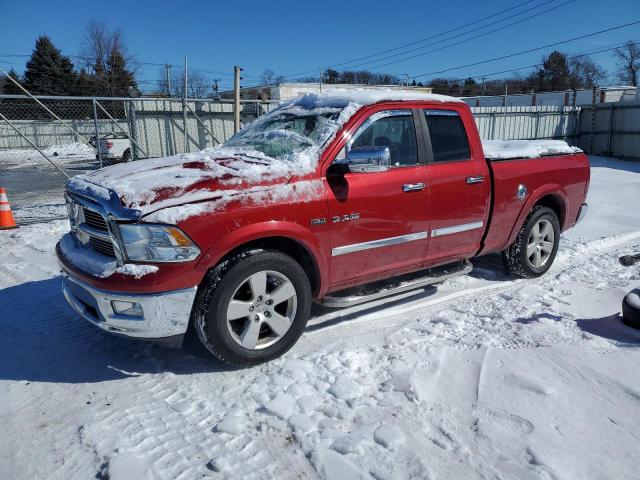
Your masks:
<instances>
[{"instance_id":1,"label":"front door window of the red truck, behind the chrome mirror","mask_svg":"<svg viewBox=\"0 0 640 480\"><path fill-rule=\"evenodd\" d=\"M356 147L389 147L391 166L416 165L418 152L411 110L387 110L373 114L348 144L348 149ZM344 152L340 152L338 158L344 158Z\"/></svg>"}]
</instances>

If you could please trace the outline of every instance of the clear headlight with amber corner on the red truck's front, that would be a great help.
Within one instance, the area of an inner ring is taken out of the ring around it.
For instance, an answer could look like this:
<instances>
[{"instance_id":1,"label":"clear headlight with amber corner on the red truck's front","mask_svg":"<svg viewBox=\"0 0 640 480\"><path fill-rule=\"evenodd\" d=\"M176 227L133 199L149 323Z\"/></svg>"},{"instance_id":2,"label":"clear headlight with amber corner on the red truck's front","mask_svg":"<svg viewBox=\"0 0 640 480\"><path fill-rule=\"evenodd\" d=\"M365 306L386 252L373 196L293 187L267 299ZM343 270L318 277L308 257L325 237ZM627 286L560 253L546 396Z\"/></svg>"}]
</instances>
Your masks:
<instances>
[{"instance_id":1,"label":"clear headlight with amber corner on the red truck's front","mask_svg":"<svg viewBox=\"0 0 640 480\"><path fill-rule=\"evenodd\" d=\"M200 255L200 249L178 227L144 223L119 227L129 260L186 262Z\"/></svg>"}]
</instances>

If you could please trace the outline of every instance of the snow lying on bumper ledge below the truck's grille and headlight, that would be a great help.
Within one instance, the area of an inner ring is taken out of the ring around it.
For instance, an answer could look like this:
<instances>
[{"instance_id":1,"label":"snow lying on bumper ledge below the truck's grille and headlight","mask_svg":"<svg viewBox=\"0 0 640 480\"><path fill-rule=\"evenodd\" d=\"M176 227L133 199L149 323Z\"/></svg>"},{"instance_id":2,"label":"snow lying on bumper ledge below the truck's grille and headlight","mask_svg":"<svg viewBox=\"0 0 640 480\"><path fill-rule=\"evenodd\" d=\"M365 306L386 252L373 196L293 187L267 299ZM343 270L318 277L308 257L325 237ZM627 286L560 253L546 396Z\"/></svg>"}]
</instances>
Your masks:
<instances>
[{"instance_id":1,"label":"snow lying on bumper ledge below the truck's grille and headlight","mask_svg":"<svg viewBox=\"0 0 640 480\"><path fill-rule=\"evenodd\" d=\"M102 255L93 248L83 248L79 246L71 233L66 233L60 239L60 250L71 265L74 265L83 272L100 278L107 278L114 273L119 273L139 279L159 270L155 265L129 263L118 267L114 258Z\"/></svg>"}]
</instances>

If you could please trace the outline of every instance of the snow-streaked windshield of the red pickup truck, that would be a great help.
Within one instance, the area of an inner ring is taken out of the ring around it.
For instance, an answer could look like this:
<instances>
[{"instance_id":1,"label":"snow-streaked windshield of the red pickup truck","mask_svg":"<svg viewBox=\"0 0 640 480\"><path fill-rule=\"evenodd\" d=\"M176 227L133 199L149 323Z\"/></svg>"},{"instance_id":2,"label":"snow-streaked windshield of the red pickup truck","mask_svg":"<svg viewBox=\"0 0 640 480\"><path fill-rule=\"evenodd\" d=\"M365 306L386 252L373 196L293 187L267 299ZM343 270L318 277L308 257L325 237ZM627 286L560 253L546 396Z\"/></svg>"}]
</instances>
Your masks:
<instances>
[{"instance_id":1,"label":"snow-streaked windshield of the red pickup truck","mask_svg":"<svg viewBox=\"0 0 640 480\"><path fill-rule=\"evenodd\" d=\"M339 127L340 108L277 109L240 130L224 147L258 151L267 157L294 160L295 154L318 149Z\"/></svg>"}]
</instances>

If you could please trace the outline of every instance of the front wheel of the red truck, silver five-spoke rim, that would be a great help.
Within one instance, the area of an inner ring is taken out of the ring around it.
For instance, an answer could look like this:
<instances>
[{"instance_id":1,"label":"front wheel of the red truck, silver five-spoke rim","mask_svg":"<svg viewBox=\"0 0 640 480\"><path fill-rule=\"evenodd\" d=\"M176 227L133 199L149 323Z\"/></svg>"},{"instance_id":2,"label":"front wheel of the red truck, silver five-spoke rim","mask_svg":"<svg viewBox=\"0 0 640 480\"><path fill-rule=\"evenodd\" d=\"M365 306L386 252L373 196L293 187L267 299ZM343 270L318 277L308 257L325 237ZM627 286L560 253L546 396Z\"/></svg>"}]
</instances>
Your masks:
<instances>
[{"instance_id":1,"label":"front wheel of the red truck, silver five-spoke rim","mask_svg":"<svg viewBox=\"0 0 640 480\"><path fill-rule=\"evenodd\" d=\"M311 310L302 267L273 250L241 253L211 270L194 308L202 344L246 367L277 358L300 338Z\"/></svg>"}]
</instances>

